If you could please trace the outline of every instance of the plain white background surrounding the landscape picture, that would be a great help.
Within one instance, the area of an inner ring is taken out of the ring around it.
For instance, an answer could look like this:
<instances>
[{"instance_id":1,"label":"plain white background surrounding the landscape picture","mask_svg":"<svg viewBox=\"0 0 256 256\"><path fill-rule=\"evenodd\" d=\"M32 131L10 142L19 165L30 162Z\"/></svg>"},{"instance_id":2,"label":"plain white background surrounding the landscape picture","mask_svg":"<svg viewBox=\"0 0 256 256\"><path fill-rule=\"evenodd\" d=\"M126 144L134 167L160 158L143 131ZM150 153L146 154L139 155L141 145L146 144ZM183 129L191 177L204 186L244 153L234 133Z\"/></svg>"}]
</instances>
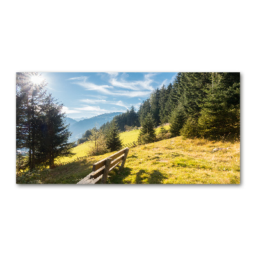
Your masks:
<instances>
[{"instance_id":1,"label":"plain white background surrounding the landscape picture","mask_svg":"<svg viewBox=\"0 0 256 256\"><path fill-rule=\"evenodd\" d=\"M2 255L255 255L253 1L1 3ZM241 72L241 184L15 184L15 72Z\"/></svg>"}]
</instances>

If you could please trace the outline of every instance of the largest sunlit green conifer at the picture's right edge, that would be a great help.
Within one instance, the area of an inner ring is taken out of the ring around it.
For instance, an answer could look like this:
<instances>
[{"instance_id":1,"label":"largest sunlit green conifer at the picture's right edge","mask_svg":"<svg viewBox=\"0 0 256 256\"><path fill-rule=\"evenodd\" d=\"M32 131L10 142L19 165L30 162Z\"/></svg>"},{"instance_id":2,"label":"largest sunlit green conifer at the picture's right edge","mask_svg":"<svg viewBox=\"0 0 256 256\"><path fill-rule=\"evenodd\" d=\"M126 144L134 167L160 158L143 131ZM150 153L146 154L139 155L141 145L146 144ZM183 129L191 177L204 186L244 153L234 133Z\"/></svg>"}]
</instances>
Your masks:
<instances>
[{"instance_id":1,"label":"largest sunlit green conifer at the picture's right edge","mask_svg":"<svg viewBox=\"0 0 256 256\"><path fill-rule=\"evenodd\" d=\"M240 133L239 73L220 73L218 82L212 76L207 97L198 119L200 134L205 138L238 138Z\"/></svg>"}]
</instances>

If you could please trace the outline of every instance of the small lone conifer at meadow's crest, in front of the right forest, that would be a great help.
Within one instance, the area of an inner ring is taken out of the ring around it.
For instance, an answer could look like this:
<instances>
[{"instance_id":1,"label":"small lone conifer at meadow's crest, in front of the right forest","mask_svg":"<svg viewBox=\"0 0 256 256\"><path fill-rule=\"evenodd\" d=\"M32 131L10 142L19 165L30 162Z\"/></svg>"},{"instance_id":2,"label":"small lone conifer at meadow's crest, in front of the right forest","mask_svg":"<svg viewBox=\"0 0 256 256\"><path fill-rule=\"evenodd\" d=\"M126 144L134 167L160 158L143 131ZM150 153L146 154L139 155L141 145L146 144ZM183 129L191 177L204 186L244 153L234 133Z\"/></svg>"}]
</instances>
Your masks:
<instances>
[{"instance_id":1,"label":"small lone conifer at meadow's crest, in front of the right forest","mask_svg":"<svg viewBox=\"0 0 256 256\"><path fill-rule=\"evenodd\" d=\"M138 137L139 144L151 143L156 141L156 131L154 130L154 120L150 113L145 116L142 127L140 129L140 134Z\"/></svg>"}]
</instances>

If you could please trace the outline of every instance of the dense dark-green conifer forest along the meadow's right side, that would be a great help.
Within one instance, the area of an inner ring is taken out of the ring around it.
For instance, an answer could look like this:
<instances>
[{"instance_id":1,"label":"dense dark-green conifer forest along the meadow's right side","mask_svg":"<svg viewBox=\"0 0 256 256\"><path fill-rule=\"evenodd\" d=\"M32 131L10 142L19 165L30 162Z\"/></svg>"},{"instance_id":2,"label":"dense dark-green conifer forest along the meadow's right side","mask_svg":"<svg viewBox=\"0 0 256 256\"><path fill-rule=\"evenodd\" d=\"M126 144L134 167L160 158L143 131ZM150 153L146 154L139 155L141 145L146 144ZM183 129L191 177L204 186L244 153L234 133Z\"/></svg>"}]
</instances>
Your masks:
<instances>
[{"instance_id":1,"label":"dense dark-green conifer forest along the meadow's right side","mask_svg":"<svg viewBox=\"0 0 256 256\"><path fill-rule=\"evenodd\" d=\"M148 113L154 125L170 123L171 136L239 138L240 74L182 72L143 101L140 124Z\"/></svg>"}]
</instances>

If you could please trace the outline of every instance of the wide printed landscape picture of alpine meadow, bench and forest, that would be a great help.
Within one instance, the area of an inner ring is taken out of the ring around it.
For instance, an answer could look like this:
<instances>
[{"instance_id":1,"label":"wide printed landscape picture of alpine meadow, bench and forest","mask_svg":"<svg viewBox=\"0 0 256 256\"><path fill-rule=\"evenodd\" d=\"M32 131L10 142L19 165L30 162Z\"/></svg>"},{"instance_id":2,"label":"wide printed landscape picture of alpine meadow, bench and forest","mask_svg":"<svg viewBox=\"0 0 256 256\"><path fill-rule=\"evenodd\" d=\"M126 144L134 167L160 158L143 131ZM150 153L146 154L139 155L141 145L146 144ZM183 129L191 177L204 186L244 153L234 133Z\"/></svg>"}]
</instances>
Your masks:
<instances>
[{"instance_id":1,"label":"wide printed landscape picture of alpine meadow, bench and forest","mask_svg":"<svg viewBox=\"0 0 256 256\"><path fill-rule=\"evenodd\" d=\"M17 73L16 182L239 184L240 74Z\"/></svg>"}]
</instances>

